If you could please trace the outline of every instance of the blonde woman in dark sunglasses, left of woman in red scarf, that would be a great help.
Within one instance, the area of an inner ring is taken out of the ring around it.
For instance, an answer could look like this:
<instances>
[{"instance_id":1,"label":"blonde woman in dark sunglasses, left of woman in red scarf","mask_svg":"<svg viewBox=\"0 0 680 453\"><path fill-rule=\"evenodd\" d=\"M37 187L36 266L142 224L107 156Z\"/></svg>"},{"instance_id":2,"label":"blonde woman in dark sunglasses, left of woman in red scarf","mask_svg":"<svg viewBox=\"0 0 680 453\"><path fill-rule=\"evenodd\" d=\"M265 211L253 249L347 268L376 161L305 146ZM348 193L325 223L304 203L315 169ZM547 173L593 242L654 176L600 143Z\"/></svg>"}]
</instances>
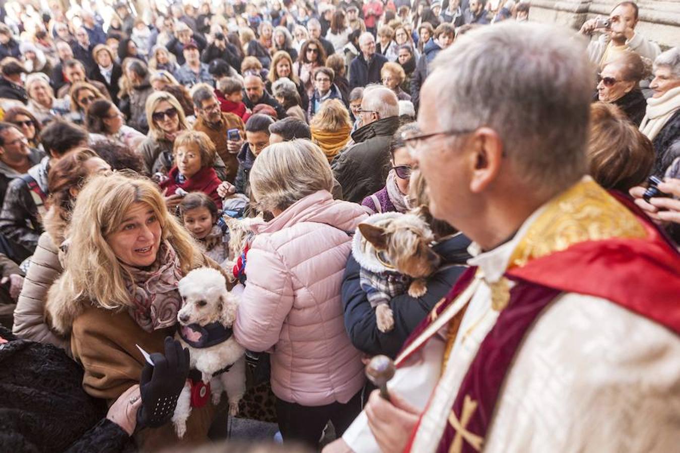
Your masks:
<instances>
[{"instance_id":1,"label":"blonde woman in dark sunglasses, left of woman in red scarf","mask_svg":"<svg viewBox=\"0 0 680 453\"><path fill-rule=\"evenodd\" d=\"M167 175L174 164L175 137L189 128L177 98L165 91L153 93L146 100L149 135L139 146L144 173Z\"/></svg>"}]
</instances>

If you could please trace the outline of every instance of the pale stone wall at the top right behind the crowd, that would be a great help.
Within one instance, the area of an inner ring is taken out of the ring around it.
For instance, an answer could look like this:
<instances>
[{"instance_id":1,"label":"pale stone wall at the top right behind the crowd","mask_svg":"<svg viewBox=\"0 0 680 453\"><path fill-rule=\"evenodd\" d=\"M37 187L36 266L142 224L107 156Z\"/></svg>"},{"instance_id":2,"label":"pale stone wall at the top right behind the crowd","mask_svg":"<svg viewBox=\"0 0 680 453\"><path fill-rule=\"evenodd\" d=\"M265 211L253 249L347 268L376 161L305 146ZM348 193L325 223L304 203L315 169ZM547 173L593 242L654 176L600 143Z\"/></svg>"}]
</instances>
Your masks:
<instances>
[{"instance_id":1,"label":"pale stone wall at the top right behind the crowd","mask_svg":"<svg viewBox=\"0 0 680 453\"><path fill-rule=\"evenodd\" d=\"M609 16L618 0L531 0L529 19L553 22L579 29L596 16ZM662 49L680 46L680 0L637 2L639 22L635 30L656 41Z\"/></svg>"}]
</instances>

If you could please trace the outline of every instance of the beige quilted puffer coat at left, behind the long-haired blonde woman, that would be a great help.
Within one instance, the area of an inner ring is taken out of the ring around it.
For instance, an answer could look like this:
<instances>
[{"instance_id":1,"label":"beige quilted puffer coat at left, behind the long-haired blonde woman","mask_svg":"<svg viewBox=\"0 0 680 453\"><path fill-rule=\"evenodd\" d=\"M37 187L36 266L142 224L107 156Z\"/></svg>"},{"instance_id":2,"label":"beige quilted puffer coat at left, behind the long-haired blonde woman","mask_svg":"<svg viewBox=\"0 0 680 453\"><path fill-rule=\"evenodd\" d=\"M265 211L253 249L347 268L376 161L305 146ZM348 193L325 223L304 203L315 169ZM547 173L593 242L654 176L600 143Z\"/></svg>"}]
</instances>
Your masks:
<instances>
[{"instance_id":1,"label":"beige quilted puffer coat at left, behind the long-haired blonde woman","mask_svg":"<svg viewBox=\"0 0 680 453\"><path fill-rule=\"evenodd\" d=\"M59 336L45 322L47 293L63 272L59 250L48 233L38 239L38 246L31 257L31 266L24 279L24 287L14 310L14 335L41 343L52 343L71 354L69 339Z\"/></svg>"}]
</instances>

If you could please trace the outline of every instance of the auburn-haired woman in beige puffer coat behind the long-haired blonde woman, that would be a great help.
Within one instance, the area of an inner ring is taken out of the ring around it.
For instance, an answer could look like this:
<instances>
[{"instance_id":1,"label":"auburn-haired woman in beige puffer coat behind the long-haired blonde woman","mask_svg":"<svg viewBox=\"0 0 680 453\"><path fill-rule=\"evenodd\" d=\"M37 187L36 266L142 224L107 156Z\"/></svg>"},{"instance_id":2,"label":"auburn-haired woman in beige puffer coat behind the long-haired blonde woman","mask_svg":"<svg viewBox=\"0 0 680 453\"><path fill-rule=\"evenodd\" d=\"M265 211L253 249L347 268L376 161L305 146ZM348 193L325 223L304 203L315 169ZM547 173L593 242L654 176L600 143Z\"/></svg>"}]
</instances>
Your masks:
<instances>
[{"instance_id":1,"label":"auburn-haired woman in beige puffer coat behind the long-haired blonde woman","mask_svg":"<svg viewBox=\"0 0 680 453\"><path fill-rule=\"evenodd\" d=\"M63 272L63 247L71 211L78 193L88 177L108 173L109 164L89 148L74 149L59 159L48 175L50 197L48 212L43 219L45 232L40 235L35 253L24 280L14 310L12 331L21 338L51 343L71 355L68 338L57 336L45 321L47 293L54 280Z\"/></svg>"}]
</instances>

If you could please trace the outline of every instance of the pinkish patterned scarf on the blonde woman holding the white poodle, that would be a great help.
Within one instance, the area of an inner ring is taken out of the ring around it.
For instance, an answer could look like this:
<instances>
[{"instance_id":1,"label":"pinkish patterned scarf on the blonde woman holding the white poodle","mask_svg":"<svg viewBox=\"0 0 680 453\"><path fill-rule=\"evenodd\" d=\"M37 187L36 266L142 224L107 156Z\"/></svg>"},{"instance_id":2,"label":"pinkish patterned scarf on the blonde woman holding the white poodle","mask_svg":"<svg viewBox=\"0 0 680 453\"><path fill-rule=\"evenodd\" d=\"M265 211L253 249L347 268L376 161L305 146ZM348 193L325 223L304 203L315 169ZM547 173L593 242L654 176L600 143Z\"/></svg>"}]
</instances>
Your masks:
<instances>
[{"instance_id":1,"label":"pinkish patterned scarf on the blonde woman holding the white poodle","mask_svg":"<svg viewBox=\"0 0 680 453\"><path fill-rule=\"evenodd\" d=\"M134 306L130 316L142 329L152 332L171 327L177 322L177 312L182 306L177 283L182 278L180 259L169 242L160 243L158 257L149 270L123 267L133 276L125 279Z\"/></svg>"}]
</instances>

